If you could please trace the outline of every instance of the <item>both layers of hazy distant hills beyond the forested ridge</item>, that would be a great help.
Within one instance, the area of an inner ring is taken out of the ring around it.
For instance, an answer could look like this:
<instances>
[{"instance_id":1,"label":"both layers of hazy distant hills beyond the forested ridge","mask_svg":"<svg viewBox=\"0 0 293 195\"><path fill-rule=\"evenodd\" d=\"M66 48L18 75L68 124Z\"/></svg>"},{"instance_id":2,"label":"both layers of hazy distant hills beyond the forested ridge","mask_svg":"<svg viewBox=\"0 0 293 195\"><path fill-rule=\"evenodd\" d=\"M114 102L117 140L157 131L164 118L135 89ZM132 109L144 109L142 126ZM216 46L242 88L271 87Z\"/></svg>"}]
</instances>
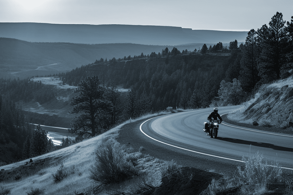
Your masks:
<instances>
[{"instance_id":1,"label":"both layers of hazy distant hills beyond the forested ridge","mask_svg":"<svg viewBox=\"0 0 293 195\"><path fill-rule=\"evenodd\" d=\"M166 47L193 51L204 43L229 46L246 37L247 32L168 26L0 23L0 78L53 75L100 58L148 55Z\"/></svg>"}]
</instances>

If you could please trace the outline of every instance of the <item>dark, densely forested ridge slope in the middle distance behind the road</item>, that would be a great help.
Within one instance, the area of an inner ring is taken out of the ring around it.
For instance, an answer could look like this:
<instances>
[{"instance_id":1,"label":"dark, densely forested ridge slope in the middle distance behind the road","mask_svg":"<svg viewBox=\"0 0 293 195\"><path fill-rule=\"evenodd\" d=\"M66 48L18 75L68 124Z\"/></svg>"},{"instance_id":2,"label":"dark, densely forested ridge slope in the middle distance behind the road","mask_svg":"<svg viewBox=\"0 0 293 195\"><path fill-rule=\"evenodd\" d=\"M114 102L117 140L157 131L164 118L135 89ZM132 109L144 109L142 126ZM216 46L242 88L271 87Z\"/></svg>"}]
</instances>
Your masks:
<instances>
[{"instance_id":1,"label":"dark, densely forested ridge slope in the middle distance behind the road","mask_svg":"<svg viewBox=\"0 0 293 195\"><path fill-rule=\"evenodd\" d=\"M230 56L199 54L122 61L112 59L82 66L60 76L64 83L77 85L85 77L96 74L106 86L114 81L123 88L133 88L137 97L146 91L154 110L176 107L183 91L190 97L197 89L199 95L205 96L197 107L206 107L217 95L230 61L233 61Z\"/></svg>"}]
</instances>

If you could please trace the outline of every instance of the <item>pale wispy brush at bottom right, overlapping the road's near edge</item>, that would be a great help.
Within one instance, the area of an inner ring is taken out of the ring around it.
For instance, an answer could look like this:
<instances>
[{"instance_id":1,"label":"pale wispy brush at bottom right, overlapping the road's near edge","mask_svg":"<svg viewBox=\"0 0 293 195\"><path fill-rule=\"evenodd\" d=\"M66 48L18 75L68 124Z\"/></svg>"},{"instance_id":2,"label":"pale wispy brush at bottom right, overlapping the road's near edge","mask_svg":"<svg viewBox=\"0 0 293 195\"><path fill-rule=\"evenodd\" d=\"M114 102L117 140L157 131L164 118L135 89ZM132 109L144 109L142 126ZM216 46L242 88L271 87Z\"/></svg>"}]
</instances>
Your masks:
<instances>
[{"instance_id":1,"label":"pale wispy brush at bottom right, overlapping the road's near edge","mask_svg":"<svg viewBox=\"0 0 293 195\"><path fill-rule=\"evenodd\" d=\"M243 157L244 167L238 167L232 176L226 176L219 180L213 179L206 194L260 195L274 193L269 190L269 187L273 184L282 185L284 183L282 169L277 163L269 166L267 162L263 163L262 159L263 155L258 152L248 159ZM290 194L292 183L287 185L287 191Z\"/></svg>"}]
</instances>

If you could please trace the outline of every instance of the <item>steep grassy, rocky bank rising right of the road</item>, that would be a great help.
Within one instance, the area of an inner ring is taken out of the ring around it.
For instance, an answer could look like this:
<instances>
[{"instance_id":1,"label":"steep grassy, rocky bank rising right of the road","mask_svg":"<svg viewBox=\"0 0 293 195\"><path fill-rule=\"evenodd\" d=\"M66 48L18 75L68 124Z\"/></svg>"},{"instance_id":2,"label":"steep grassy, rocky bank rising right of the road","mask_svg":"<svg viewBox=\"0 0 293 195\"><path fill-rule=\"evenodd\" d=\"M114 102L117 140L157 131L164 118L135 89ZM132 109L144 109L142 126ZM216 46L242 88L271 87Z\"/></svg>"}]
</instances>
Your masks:
<instances>
[{"instance_id":1,"label":"steep grassy, rocky bank rising right of the road","mask_svg":"<svg viewBox=\"0 0 293 195\"><path fill-rule=\"evenodd\" d=\"M245 124L256 121L262 127L293 131L293 77L262 85L254 97L243 104L229 119Z\"/></svg>"}]
</instances>

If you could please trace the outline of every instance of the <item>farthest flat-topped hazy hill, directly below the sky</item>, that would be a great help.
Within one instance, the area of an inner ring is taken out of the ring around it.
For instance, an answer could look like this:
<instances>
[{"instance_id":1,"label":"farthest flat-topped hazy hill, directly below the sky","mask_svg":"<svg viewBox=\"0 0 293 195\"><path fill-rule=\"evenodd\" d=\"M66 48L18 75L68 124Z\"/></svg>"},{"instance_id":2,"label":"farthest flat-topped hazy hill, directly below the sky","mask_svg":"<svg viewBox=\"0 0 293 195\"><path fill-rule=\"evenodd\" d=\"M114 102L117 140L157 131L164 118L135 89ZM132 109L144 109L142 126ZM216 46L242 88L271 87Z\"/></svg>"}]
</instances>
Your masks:
<instances>
[{"instance_id":1,"label":"farthest flat-topped hazy hill, directly below the sky","mask_svg":"<svg viewBox=\"0 0 293 195\"><path fill-rule=\"evenodd\" d=\"M235 39L238 42L244 42L247 33L246 31L192 30L168 26L0 23L0 37L16 38L28 42L135 43L143 45L230 43Z\"/></svg>"}]
</instances>

